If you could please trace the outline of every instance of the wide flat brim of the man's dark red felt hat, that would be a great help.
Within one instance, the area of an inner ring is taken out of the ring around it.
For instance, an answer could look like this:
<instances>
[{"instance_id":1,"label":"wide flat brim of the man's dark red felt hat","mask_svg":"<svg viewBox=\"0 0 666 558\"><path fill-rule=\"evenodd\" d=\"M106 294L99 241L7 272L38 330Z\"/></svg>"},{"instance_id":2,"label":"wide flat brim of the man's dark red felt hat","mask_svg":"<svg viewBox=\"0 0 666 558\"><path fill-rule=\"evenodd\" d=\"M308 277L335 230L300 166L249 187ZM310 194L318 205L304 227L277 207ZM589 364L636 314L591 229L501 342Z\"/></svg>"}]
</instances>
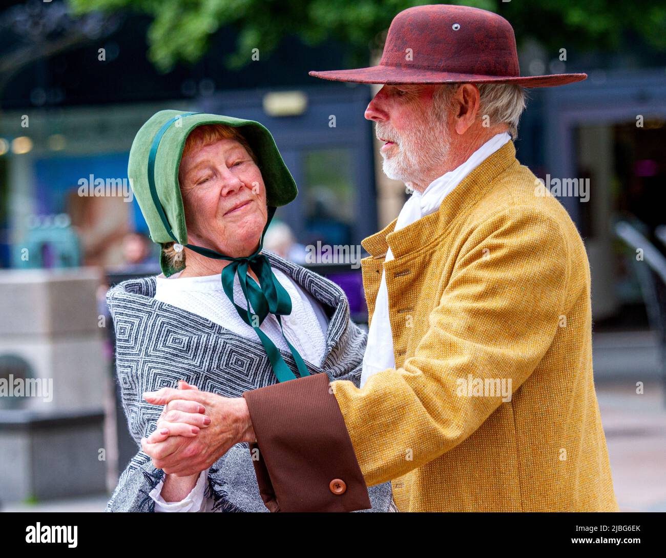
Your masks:
<instances>
[{"instance_id":1,"label":"wide flat brim of the man's dark red felt hat","mask_svg":"<svg viewBox=\"0 0 666 558\"><path fill-rule=\"evenodd\" d=\"M555 87L575 81L583 81L586 73L557 73L552 75L531 75L529 77L509 77L499 75L479 75L472 73L440 72L428 69L371 66L353 70L311 71L309 75L332 81L353 83L384 83L400 85L408 83L517 83L523 87Z\"/></svg>"}]
</instances>

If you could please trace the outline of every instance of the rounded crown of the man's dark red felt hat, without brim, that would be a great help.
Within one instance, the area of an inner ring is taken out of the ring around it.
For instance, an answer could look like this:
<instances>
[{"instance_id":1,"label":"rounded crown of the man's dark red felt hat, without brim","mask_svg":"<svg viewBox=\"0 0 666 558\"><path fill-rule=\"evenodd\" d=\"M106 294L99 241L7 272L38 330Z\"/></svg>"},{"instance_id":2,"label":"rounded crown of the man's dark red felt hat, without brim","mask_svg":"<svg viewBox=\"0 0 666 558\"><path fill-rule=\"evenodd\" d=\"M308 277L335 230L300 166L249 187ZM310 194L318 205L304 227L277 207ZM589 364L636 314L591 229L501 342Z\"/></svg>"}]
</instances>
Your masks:
<instances>
[{"instance_id":1,"label":"rounded crown of the man's dark red felt hat, without brim","mask_svg":"<svg viewBox=\"0 0 666 558\"><path fill-rule=\"evenodd\" d=\"M380 65L487 76L520 75L511 24L452 5L408 8L393 19Z\"/></svg>"}]
</instances>

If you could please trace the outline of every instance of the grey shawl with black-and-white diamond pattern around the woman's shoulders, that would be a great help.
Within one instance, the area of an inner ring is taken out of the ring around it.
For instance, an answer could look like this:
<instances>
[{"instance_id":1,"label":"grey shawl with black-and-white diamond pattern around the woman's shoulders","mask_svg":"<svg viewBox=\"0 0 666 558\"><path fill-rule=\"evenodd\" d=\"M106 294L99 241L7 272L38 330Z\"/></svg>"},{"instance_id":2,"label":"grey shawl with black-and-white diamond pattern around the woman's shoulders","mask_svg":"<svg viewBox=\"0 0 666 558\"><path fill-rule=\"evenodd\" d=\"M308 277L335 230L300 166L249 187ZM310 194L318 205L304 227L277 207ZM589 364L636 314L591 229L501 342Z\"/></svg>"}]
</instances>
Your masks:
<instances>
[{"instance_id":1,"label":"grey shawl with black-and-white diamond pattern around the woman's shoulders","mask_svg":"<svg viewBox=\"0 0 666 558\"><path fill-rule=\"evenodd\" d=\"M324 305L330 315L326 355L321 366L306 362L311 373L326 373L358 386L366 333L350 321L349 304L338 285L268 251L270 263L289 275ZM240 397L244 391L271 385L277 379L258 339L245 339L210 320L155 300L155 277L130 279L107 293L116 335L117 380L121 385L127 424L139 452L121 474L107 511L149 511L151 489L164 473L141 451L162 407L143 401L144 391L176 387L179 379L202 391ZM290 353L282 352L298 375ZM368 490L372 510L387 511L390 483ZM268 511L259 495L247 443L234 445L210 468L206 495L216 511Z\"/></svg>"}]
</instances>

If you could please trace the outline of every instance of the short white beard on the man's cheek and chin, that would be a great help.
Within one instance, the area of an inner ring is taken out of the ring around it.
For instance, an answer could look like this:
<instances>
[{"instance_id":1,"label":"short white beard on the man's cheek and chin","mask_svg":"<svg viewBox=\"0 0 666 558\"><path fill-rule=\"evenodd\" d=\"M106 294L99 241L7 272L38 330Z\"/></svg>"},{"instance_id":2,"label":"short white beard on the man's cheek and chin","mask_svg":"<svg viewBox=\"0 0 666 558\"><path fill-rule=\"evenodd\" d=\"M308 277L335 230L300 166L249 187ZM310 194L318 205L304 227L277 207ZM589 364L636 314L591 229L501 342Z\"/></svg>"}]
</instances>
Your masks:
<instances>
[{"instance_id":1,"label":"short white beard on the man's cheek and chin","mask_svg":"<svg viewBox=\"0 0 666 558\"><path fill-rule=\"evenodd\" d=\"M378 137L397 141L396 152L391 157L382 153L382 170L390 179L427 187L436 178L432 176L434 169L446 166L450 151L448 131L444 122L438 121L434 115L402 135L385 128L382 123L376 125L376 133Z\"/></svg>"}]
</instances>

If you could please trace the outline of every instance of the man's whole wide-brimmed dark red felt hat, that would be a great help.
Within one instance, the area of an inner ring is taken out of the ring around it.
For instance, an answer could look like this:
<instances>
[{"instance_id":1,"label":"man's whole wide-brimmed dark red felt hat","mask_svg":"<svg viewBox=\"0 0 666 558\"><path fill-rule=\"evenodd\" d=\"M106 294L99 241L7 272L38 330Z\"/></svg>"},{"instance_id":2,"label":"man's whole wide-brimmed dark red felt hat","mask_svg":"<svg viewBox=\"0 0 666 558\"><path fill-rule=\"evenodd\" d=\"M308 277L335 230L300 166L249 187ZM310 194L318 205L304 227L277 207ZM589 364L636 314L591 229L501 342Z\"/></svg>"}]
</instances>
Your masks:
<instances>
[{"instance_id":1,"label":"man's whole wide-brimmed dark red felt hat","mask_svg":"<svg viewBox=\"0 0 666 558\"><path fill-rule=\"evenodd\" d=\"M513 27L500 15L467 6L430 5L401 11L386 36L377 66L311 71L355 83L517 83L554 87L585 73L521 76Z\"/></svg>"}]
</instances>

